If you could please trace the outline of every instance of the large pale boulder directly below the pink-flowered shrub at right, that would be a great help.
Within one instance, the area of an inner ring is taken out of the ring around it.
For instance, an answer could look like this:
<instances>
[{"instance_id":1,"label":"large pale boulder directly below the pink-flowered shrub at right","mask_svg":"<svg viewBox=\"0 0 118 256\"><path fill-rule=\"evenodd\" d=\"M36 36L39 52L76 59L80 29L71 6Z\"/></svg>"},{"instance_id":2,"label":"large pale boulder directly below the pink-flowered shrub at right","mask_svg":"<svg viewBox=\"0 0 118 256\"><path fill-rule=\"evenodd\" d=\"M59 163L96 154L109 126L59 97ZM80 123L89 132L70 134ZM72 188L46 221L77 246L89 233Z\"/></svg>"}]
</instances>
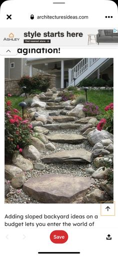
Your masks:
<instances>
[{"instance_id":1,"label":"large pale boulder directly below the pink-flowered shrub at right","mask_svg":"<svg viewBox=\"0 0 118 256\"><path fill-rule=\"evenodd\" d=\"M87 140L91 144L91 146L94 146L97 142L100 142L104 139L110 139L111 141L113 141L113 135L105 130L98 131L97 129L93 130L87 135Z\"/></svg>"}]
</instances>

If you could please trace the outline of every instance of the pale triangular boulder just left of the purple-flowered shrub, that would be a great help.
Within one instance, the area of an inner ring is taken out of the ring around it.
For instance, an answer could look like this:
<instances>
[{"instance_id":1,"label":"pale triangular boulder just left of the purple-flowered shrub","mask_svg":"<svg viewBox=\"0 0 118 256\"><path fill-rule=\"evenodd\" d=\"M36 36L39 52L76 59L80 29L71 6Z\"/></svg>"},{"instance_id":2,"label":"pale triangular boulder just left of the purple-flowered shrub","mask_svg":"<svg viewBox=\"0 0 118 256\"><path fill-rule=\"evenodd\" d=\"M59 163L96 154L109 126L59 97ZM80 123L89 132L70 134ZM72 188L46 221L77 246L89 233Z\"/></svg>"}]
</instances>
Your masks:
<instances>
[{"instance_id":1,"label":"pale triangular boulder just left of the purple-flowered shrub","mask_svg":"<svg viewBox=\"0 0 118 256\"><path fill-rule=\"evenodd\" d=\"M82 104L77 104L73 109L67 112L68 116L75 116L75 117L85 117L85 113L82 111L83 105ZM82 112L81 112L82 111ZM83 114L83 116L80 116L80 114Z\"/></svg>"}]
</instances>

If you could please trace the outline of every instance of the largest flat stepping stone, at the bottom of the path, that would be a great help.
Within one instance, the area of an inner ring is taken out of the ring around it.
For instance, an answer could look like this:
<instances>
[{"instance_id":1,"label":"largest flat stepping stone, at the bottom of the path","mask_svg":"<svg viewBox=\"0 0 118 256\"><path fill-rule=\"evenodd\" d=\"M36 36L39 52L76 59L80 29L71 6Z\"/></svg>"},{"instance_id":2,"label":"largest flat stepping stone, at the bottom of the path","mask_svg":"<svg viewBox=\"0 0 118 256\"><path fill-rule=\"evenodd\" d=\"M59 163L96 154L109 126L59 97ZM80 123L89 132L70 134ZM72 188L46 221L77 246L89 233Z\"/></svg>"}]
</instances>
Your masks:
<instances>
[{"instance_id":1,"label":"largest flat stepping stone, at the bottom of the path","mask_svg":"<svg viewBox=\"0 0 118 256\"><path fill-rule=\"evenodd\" d=\"M23 191L42 203L82 203L87 190L94 183L89 177L46 174L30 178Z\"/></svg>"}]
</instances>

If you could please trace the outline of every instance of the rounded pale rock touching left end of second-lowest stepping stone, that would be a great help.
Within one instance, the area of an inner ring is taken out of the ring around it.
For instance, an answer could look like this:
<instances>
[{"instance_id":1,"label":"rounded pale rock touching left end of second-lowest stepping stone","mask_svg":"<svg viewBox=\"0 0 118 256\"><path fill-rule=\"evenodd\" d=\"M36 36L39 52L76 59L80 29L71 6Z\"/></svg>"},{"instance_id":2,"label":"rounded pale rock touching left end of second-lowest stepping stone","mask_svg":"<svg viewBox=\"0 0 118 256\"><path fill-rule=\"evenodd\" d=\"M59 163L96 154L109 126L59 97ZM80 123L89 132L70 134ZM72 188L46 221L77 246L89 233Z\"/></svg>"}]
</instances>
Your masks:
<instances>
[{"instance_id":1,"label":"rounded pale rock touching left end of second-lowest stepping stone","mask_svg":"<svg viewBox=\"0 0 118 256\"><path fill-rule=\"evenodd\" d=\"M40 153L33 145L25 146L22 151L22 155L25 158L29 158L31 160L39 160L40 159Z\"/></svg>"}]
</instances>

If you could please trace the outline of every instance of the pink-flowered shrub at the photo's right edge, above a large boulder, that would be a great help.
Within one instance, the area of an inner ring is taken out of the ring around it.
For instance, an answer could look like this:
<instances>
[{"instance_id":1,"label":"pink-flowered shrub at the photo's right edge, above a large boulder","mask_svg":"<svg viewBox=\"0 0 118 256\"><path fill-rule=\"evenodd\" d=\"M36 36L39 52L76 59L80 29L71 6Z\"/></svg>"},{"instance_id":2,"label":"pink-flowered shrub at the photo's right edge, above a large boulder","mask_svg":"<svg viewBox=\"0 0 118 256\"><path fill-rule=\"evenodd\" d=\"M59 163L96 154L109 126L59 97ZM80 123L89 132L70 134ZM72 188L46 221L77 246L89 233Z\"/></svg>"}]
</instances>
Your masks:
<instances>
[{"instance_id":1,"label":"pink-flowered shrub at the photo's right edge, above a large boulder","mask_svg":"<svg viewBox=\"0 0 118 256\"><path fill-rule=\"evenodd\" d=\"M113 133L113 103L111 102L105 108L104 118L102 118L97 124L97 130L101 131L102 129Z\"/></svg>"}]
</instances>

